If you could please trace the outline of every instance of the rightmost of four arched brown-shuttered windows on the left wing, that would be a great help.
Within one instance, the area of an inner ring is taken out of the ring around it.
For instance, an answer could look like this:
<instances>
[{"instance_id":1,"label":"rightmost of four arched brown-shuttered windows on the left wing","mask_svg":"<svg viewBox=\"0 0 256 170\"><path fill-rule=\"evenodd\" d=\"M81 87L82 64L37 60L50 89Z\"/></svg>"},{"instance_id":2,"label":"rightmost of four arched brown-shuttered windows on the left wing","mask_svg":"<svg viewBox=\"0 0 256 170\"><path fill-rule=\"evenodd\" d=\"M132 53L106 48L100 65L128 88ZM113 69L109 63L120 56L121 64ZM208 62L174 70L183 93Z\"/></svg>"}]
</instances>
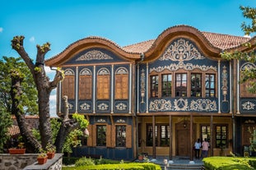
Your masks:
<instances>
[{"instance_id":1,"label":"rightmost of four arched brown-shuttered windows on the left wing","mask_svg":"<svg viewBox=\"0 0 256 170\"><path fill-rule=\"evenodd\" d=\"M115 99L128 99L128 70L120 67L115 72Z\"/></svg>"}]
</instances>

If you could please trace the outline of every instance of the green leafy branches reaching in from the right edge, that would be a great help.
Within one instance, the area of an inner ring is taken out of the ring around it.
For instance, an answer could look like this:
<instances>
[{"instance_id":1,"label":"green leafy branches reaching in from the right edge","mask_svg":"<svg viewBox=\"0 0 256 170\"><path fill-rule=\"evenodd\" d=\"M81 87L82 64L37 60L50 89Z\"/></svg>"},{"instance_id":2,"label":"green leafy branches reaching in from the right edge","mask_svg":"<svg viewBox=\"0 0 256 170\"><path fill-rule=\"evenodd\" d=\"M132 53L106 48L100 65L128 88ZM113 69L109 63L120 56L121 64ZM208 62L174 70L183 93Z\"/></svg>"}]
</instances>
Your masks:
<instances>
[{"instance_id":1,"label":"green leafy branches reaching in from the right edge","mask_svg":"<svg viewBox=\"0 0 256 170\"><path fill-rule=\"evenodd\" d=\"M249 23L243 22L241 25L241 29L244 31L246 35L254 35L256 33L256 7L243 7L240 6L240 10L243 13L244 18L246 18ZM243 44L243 50L236 51L224 51L221 53L221 57L226 60L240 60L244 62L256 62L256 37L250 39L249 42ZM250 82L249 92L256 93L256 68L245 68L244 71L241 71L240 83L244 83L245 81Z\"/></svg>"}]
</instances>

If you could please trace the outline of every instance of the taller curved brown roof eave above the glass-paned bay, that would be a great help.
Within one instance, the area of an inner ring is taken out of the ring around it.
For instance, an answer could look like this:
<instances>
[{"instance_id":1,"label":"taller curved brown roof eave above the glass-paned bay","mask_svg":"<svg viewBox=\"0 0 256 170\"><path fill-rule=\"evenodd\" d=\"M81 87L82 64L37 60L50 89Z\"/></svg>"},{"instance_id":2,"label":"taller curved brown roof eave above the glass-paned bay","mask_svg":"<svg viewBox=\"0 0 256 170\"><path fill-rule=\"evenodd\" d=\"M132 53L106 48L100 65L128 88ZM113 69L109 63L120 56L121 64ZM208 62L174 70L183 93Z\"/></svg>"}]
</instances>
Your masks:
<instances>
[{"instance_id":1,"label":"taller curved brown roof eave above the glass-paned bay","mask_svg":"<svg viewBox=\"0 0 256 170\"><path fill-rule=\"evenodd\" d=\"M189 25L177 25L164 30L156 38L155 42L144 53L145 60L151 60L155 57L159 57L165 48L167 48L167 45L170 44L170 41L178 37L193 39L198 47L202 49L202 53L205 53L208 57L215 59L220 58L219 54L222 49L212 45L199 30Z\"/></svg>"}]
</instances>

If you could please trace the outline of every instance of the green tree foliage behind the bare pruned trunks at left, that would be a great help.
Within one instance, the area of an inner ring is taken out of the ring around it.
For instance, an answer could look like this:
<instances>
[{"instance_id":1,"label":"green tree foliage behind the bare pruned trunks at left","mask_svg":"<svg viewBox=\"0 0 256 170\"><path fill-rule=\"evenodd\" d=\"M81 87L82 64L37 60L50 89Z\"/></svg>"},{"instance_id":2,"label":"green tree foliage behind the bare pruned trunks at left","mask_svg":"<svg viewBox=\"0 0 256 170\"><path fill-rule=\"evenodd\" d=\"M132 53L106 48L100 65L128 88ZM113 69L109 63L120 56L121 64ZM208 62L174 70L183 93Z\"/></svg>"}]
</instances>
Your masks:
<instances>
[{"instance_id":1,"label":"green tree foliage behind the bare pruned trunks at left","mask_svg":"<svg viewBox=\"0 0 256 170\"><path fill-rule=\"evenodd\" d=\"M24 107L26 114L34 115L38 113L37 104L37 90L35 88L35 82L30 73L30 70L26 66L26 63L22 61L21 57L2 57L0 60L0 103L7 113L12 112L12 99L10 95L11 90L11 71L19 71L25 75L22 81L22 97L21 105Z\"/></svg>"}]
</instances>

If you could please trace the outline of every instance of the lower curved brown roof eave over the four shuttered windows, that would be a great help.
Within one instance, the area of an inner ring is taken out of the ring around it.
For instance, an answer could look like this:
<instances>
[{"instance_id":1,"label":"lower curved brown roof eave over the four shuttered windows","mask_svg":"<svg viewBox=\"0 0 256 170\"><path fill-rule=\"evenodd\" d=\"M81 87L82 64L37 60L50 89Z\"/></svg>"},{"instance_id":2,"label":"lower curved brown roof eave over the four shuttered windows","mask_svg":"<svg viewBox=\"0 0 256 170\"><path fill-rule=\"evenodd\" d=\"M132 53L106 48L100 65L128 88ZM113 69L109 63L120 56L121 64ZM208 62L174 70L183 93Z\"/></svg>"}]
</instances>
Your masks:
<instances>
[{"instance_id":1,"label":"lower curved brown roof eave over the four shuttered windows","mask_svg":"<svg viewBox=\"0 0 256 170\"><path fill-rule=\"evenodd\" d=\"M115 44L113 41L110 41L109 39L104 39L97 36L90 36L85 39L77 40L76 42L68 45L67 48L63 50L63 52L58 53L56 56L45 60L45 64L49 67L58 67L63 62L66 62L68 59L70 59L70 57L74 56L75 54L81 52L86 48L91 47L109 49L113 53L117 53L119 54L119 56L128 60L140 58L140 53L131 53L125 51L118 44Z\"/></svg>"}]
</instances>

